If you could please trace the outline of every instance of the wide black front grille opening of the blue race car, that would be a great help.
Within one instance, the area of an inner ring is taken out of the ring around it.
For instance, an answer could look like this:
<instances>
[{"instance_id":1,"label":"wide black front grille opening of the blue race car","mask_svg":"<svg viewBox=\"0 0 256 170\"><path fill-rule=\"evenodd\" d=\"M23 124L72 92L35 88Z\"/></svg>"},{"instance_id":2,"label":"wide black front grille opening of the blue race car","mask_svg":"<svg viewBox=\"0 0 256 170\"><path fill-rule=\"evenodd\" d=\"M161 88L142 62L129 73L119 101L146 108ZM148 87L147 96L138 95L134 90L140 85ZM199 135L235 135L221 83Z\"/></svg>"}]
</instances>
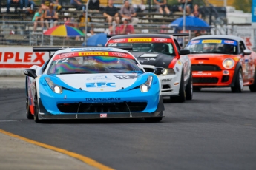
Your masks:
<instances>
[{"instance_id":1,"label":"wide black front grille opening of the blue race car","mask_svg":"<svg viewBox=\"0 0 256 170\"><path fill-rule=\"evenodd\" d=\"M58 109L64 113L108 113L108 112L141 112L147 106L146 102L122 103L59 103Z\"/></svg>"}]
</instances>

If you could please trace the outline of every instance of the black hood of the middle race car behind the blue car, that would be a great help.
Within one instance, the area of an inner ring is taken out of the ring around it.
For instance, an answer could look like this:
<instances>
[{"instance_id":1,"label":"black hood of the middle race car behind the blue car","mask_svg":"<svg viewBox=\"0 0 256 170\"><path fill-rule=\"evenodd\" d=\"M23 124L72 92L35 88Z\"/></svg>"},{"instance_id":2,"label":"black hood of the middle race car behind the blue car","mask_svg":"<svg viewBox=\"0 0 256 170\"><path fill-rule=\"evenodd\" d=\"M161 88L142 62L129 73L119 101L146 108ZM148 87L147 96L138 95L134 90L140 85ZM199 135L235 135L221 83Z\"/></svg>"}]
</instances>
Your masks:
<instances>
[{"instance_id":1,"label":"black hood of the middle race car behind the blue car","mask_svg":"<svg viewBox=\"0 0 256 170\"><path fill-rule=\"evenodd\" d=\"M131 52L140 64L168 68L175 56L157 52Z\"/></svg>"}]
</instances>

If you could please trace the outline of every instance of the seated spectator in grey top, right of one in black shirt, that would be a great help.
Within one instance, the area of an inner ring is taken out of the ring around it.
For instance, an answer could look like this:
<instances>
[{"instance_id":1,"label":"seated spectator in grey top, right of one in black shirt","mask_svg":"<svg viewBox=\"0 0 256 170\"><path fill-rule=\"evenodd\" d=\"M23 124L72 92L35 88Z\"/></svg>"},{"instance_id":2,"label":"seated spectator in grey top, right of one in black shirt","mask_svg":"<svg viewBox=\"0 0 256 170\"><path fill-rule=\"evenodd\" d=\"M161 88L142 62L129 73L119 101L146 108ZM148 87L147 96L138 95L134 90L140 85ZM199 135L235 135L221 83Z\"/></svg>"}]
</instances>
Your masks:
<instances>
[{"instance_id":1,"label":"seated spectator in grey top, right of one in black shirt","mask_svg":"<svg viewBox=\"0 0 256 170\"><path fill-rule=\"evenodd\" d=\"M137 13L135 12L134 7L130 6L128 0L124 1L120 14L122 16L122 21L128 20L131 21L131 24L137 24L139 22L139 19L135 17Z\"/></svg>"}]
</instances>

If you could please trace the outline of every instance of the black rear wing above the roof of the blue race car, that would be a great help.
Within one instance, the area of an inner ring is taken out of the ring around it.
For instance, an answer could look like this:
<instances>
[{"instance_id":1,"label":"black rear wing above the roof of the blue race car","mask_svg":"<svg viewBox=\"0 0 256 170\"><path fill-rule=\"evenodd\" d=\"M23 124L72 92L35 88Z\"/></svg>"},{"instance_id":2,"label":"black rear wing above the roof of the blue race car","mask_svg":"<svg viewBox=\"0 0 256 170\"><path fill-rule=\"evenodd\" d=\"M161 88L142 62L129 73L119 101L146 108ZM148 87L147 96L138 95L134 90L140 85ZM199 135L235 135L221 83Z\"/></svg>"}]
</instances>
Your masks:
<instances>
[{"instance_id":1,"label":"black rear wing above the roof of the blue race car","mask_svg":"<svg viewBox=\"0 0 256 170\"><path fill-rule=\"evenodd\" d=\"M59 50L63 50L66 48L93 48L93 47L97 47L97 48L111 48L111 47L101 47L101 46L76 46L76 47L33 47L33 52L49 52L49 58L52 57L52 55L50 55L51 52L56 52ZM119 47L114 47L114 48L118 48L118 49L122 49L122 50L127 50L127 51L132 51L132 47L131 46L119 46Z\"/></svg>"}]
</instances>

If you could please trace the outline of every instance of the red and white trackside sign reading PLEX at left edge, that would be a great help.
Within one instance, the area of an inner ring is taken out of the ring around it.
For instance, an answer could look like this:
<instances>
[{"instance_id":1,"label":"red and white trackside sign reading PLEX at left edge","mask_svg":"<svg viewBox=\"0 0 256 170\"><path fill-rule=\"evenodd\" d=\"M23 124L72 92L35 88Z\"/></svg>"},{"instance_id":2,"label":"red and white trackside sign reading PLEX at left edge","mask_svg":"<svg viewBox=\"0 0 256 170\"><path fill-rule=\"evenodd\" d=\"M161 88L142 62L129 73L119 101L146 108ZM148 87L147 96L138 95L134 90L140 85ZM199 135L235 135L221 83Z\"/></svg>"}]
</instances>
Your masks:
<instances>
[{"instance_id":1,"label":"red and white trackside sign reading PLEX at left edge","mask_svg":"<svg viewBox=\"0 0 256 170\"><path fill-rule=\"evenodd\" d=\"M49 59L48 52L33 52L31 47L1 47L0 69L28 69L42 66Z\"/></svg>"}]
</instances>

